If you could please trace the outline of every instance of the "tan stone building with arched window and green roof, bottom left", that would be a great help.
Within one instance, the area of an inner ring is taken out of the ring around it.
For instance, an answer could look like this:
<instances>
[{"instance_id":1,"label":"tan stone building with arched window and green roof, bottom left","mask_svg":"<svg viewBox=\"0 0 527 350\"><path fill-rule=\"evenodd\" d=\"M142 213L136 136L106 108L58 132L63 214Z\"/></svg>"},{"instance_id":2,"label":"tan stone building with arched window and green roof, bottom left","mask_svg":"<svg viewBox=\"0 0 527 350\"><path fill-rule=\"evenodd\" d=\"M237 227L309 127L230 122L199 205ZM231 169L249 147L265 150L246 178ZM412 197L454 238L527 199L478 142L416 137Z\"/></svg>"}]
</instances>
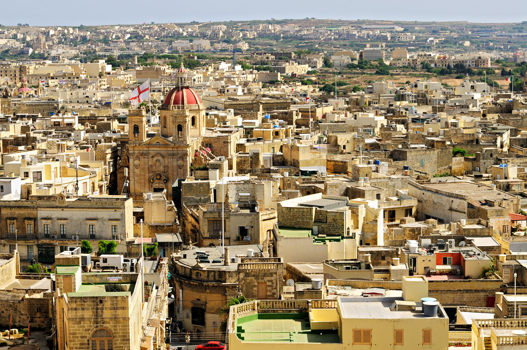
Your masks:
<instances>
[{"instance_id":1,"label":"tan stone building with arched window and green roof, bottom left","mask_svg":"<svg viewBox=\"0 0 527 350\"><path fill-rule=\"evenodd\" d=\"M147 266L150 261L145 261L149 273L144 274L143 289L140 273L83 273L80 248L64 251L55 260L53 307L58 350L166 349L165 261L157 266ZM138 264L143 266L141 261Z\"/></svg>"}]
</instances>

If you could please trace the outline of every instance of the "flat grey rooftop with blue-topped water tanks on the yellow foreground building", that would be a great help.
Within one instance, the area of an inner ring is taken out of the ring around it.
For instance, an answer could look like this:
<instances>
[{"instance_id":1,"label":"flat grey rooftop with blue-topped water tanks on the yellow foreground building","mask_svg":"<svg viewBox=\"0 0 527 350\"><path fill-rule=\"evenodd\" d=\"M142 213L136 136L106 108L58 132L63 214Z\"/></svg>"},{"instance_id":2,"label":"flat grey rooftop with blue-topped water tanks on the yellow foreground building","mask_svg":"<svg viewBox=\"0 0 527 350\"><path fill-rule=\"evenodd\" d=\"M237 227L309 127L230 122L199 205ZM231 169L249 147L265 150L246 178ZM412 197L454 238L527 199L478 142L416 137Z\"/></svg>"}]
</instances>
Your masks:
<instances>
[{"instance_id":1,"label":"flat grey rooftop with blue-topped water tanks on the yellow foreground building","mask_svg":"<svg viewBox=\"0 0 527 350\"><path fill-rule=\"evenodd\" d=\"M427 317L423 314L421 306L415 310L395 310L392 304L395 300L404 300L394 297L368 297L338 298L340 314L343 318L378 318L378 319L401 319L401 318L447 318L442 308L438 309L437 316Z\"/></svg>"}]
</instances>

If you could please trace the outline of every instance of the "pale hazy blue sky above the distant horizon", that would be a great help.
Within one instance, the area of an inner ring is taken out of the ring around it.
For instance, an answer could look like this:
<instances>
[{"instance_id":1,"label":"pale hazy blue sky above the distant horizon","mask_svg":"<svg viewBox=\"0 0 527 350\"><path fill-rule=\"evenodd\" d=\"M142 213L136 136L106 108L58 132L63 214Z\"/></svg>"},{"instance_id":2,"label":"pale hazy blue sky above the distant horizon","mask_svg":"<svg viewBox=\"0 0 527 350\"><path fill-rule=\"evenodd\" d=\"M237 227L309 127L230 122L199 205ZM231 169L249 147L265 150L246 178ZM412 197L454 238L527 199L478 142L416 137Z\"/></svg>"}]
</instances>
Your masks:
<instances>
[{"instance_id":1,"label":"pale hazy blue sky above the distant horizon","mask_svg":"<svg viewBox=\"0 0 527 350\"><path fill-rule=\"evenodd\" d=\"M97 25L305 17L496 23L527 20L525 10L525 0L0 0L0 24Z\"/></svg>"}]
</instances>

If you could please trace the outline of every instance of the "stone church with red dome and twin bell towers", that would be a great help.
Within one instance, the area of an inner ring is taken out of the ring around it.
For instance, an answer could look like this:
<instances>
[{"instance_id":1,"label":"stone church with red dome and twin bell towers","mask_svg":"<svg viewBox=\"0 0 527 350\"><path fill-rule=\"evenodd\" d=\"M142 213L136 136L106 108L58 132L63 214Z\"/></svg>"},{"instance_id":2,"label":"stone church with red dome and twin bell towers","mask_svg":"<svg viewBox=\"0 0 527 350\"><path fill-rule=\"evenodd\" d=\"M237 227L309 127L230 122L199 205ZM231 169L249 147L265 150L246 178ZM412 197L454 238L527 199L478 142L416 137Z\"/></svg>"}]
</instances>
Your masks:
<instances>
[{"instance_id":1,"label":"stone church with red dome and twin bell towers","mask_svg":"<svg viewBox=\"0 0 527 350\"><path fill-rule=\"evenodd\" d=\"M194 151L200 149L205 131L205 108L183 65L174 75L175 88L164 99L160 109L160 131L147 139L144 109L130 109L128 114L128 154L121 166L129 168L128 194L141 200L143 193L167 190L190 174Z\"/></svg>"}]
</instances>

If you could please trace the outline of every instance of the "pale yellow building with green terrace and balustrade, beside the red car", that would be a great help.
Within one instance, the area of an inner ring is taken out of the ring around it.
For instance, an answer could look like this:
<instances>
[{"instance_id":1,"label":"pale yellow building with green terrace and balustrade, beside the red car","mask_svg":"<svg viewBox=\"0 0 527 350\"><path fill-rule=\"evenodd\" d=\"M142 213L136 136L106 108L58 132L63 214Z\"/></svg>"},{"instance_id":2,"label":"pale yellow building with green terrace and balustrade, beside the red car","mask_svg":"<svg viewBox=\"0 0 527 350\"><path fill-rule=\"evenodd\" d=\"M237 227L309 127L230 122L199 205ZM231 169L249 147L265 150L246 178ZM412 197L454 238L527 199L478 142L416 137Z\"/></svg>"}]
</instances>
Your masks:
<instances>
[{"instance_id":1,"label":"pale yellow building with green terrace and balustrade, beside the red car","mask_svg":"<svg viewBox=\"0 0 527 350\"><path fill-rule=\"evenodd\" d=\"M447 349L445 310L420 300L428 292L425 279L405 277L405 287L406 299L263 300L231 306L229 349Z\"/></svg>"}]
</instances>

